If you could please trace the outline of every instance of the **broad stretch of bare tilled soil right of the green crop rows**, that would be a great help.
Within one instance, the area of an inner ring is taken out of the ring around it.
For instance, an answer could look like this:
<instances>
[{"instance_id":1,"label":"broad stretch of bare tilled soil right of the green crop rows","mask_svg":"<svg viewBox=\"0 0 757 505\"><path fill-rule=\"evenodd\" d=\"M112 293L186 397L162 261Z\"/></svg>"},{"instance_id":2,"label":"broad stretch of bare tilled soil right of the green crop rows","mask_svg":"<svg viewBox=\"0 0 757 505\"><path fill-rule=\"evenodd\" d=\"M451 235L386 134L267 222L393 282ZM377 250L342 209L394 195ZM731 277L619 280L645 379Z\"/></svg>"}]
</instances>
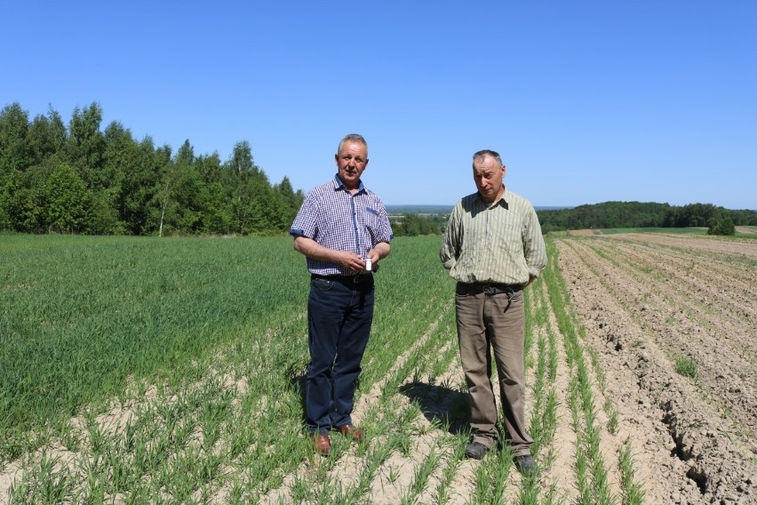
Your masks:
<instances>
[{"instance_id":1,"label":"broad stretch of bare tilled soil right of the green crop rows","mask_svg":"<svg viewBox=\"0 0 757 505\"><path fill-rule=\"evenodd\" d=\"M757 244L629 234L557 245L606 394L636 427L650 502L757 503Z\"/></svg>"}]
</instances>

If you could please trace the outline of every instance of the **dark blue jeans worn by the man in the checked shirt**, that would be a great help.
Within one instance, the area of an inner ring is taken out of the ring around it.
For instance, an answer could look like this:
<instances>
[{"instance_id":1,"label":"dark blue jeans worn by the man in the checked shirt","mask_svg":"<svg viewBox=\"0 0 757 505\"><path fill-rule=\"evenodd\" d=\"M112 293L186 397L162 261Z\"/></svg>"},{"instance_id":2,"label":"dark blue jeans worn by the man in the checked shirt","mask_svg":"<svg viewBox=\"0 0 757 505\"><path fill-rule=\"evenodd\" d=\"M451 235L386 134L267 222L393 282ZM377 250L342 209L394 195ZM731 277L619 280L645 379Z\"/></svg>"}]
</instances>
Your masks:
<instances>
[{"instance_id":1,"label":"dark blue jeans worn by the man in the checked shirt","mask_svg":"<svg viewBox=\"0 0 757 505\"><path fill-rule=\"evenodd\" d=\"M352 423L355 386L373 322L373 277L362 283L313 277L307 301L310 363L305 415L311 434Z\"/></svg>"}]
</instances>

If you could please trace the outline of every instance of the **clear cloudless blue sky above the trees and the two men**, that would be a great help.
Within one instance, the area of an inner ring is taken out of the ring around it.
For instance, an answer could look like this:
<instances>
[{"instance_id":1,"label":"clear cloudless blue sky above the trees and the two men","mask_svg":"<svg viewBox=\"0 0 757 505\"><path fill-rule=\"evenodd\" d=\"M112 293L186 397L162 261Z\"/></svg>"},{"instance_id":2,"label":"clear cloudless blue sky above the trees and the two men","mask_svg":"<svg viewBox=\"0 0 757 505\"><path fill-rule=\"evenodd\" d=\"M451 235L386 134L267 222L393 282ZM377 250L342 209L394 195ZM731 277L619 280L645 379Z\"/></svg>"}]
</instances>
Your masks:
<instances>
[{"instance_id":1,"label":"clear cloudless blue sky above the trees and the two men","mask_svg":"<svg viewBox=\"0 0 757 505\"><path fill-rule=\"evenodd\" d=\"M498 150L538 206L757 209L757 2L4 2L0 107L97 101L276 183L368 140L386 204L454 204Z\"/></svg>"}]
</instances>

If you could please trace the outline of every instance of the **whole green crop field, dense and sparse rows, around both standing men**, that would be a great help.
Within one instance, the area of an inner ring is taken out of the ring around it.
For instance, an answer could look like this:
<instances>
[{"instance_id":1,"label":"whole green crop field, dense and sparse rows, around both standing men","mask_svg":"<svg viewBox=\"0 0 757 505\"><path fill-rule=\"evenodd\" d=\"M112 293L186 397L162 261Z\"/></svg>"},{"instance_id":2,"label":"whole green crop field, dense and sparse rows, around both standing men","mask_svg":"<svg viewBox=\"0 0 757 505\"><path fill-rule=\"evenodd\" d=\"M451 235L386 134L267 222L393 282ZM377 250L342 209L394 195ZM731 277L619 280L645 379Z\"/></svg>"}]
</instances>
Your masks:
<instances>
[{"instance_id":1,"label":"whole green crop field, dense and sparse rows, around both standing men","mask_svg":"<svg viewBox=\"0 0 757 505\"><path fill-rule=\"evenodd\" d=\"M468 471L467 399L440 244L398 237L382 261L356 394L369 437L335 437L318 460L300 387L308 274L291 237L3 236L0 485L15 477L0 503L445 503L458 478L473 479L468 502L504 503L506 450L458 477ZM526 291L532 453L546 468L556 457L554 311L573 339L565 380L577 395L578 457L593 465L579 492L607 494L592 365L550 249ZM409 475L396 459L412 461ZM402 493L387 495L390 485ZM633 478L623 485L633 496ZM533 479L512 492L523 503L562 493Z\"/></svg>"}]
</instances>

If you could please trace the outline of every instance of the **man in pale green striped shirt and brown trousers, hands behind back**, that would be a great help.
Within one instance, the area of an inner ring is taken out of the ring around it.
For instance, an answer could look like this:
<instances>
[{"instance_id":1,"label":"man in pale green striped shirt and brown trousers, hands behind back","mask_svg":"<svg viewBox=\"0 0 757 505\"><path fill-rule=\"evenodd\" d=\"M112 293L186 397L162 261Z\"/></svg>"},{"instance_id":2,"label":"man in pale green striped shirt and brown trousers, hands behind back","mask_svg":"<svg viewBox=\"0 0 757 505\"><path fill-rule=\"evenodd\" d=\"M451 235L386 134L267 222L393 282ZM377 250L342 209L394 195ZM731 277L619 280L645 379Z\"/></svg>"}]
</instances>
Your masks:
<instances>
[{"instance_id":1,"label":"man in pale green striped shirt and brown trousers, hands behind back","mask_svg":"<svg viewBox=\"0 0 757 505\"><path fill-rule=\"evenodd\" d=\"M458 281L458 344L473 429L466 455L480 460L497 445L497 405L490 380L493 350L515 465L523 473L536 473L524 413L523 288L546 267L546 247L533 206L505 187L505 172L497 152L474 154L478 190L452 210L440 257Z\"/></svg>"}]
</instances>

